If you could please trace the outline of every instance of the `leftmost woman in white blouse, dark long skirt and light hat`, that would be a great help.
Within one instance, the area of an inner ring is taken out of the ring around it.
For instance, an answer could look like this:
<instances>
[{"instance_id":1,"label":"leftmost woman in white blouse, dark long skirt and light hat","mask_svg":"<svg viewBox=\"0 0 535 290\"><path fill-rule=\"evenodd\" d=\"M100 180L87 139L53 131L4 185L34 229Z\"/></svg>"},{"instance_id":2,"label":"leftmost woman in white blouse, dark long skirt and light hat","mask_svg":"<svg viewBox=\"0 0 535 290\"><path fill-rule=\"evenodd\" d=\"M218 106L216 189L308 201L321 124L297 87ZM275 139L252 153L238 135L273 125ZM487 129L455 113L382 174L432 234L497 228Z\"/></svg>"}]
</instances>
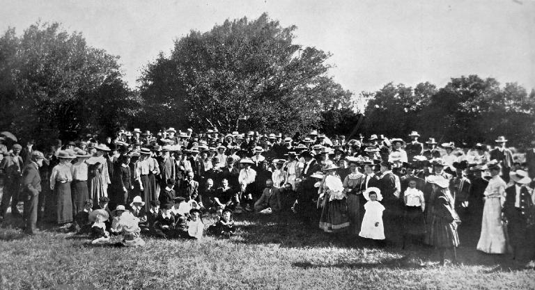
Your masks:
<instances>
[{"instance_id":1,"label":"leftmost woman in white blouse, dark long skirt and light hat","mask_svg":"<svg viewBox=\"0 0 535 290\"><path fill-rule=\"evenodd\" d=\"M56 213L58 225L68 227L72 223L72 197L70 193L70 182L72 182L72 172L70 170L70 161L74 155L65 150L56 153L59 164L52 168L50 175L50 189L56 196Z\"/></svg>"}]
</instances>

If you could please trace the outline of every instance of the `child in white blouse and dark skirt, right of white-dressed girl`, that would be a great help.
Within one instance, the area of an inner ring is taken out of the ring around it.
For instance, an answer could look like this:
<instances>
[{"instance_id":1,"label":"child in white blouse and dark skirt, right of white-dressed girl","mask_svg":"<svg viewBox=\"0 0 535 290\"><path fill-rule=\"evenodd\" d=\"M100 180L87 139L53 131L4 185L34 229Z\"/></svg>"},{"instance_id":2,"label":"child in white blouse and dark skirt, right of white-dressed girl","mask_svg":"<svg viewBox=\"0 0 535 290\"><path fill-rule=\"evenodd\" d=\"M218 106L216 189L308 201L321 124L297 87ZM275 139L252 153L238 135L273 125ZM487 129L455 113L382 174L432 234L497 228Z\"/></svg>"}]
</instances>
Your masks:
<instances>
[{"instance_id":1,"label":"child in white blouse and dark skirt, right of white-dressed girl","mask_svg":"<svg viewBox=\"0 0 535 290\"><path fill-rule=\"evenodd\" d=\"M408 188L403 194L405 202L405 213L403 214L403 248L408 236L421 236L426 233L424 222L424 193L416 188L416 180L410 179Z\"/></svg>"}]
</instances>

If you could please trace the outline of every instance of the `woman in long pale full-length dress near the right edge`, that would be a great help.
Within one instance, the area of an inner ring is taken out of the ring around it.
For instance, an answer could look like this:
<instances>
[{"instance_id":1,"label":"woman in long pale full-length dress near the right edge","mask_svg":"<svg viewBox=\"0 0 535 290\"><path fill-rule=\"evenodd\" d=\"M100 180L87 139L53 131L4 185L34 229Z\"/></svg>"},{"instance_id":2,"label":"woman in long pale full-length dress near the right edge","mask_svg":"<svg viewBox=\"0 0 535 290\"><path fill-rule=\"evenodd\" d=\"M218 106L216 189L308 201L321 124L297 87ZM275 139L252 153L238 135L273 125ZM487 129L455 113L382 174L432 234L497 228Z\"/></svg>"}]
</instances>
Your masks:
<instances>
[{"instance_id":1,"label":"woman in long pale full-length dress near the right edge","mask_svg":"<svg viewBox=\"0 0 535 290\"><path fill-rule=\"evenodd\" d=\"M507 241L502 221L502 204L505 202L506 183L499 177L501 168L497 162L490 163L487 167L492 178L484 193L485 206L477 250L487 254L505 254Z\"/></svg>"}]
</instances>

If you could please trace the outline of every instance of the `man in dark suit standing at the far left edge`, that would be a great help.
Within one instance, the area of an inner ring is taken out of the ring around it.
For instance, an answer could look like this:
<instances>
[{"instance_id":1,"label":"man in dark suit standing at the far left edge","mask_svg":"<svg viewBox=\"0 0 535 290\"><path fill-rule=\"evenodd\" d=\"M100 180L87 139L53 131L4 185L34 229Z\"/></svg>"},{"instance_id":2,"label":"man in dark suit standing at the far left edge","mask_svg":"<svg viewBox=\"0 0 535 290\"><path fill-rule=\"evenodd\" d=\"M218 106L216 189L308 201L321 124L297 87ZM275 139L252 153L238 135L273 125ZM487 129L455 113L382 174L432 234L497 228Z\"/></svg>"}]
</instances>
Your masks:
<instances>
[{"instance_id":1,"label":"man in dark suit standing at the far left edge","mask_svg":"<svg viewBox=\"0 0 535 290\"><path fill-rule=\"evenodd\" d=\"M22 150L22 146L20 144L14 144L13 147L11 147L11 154L5 156L0 162L0 176L3 175L4 177L2 202L0 204L0 220L6 216L10 200L11 214L13 216L20 216L20 212L17 209L17 203L19 202L22 166L24 166L24 161L19 155L20 150Z\"/></svg>"}]
</instances>

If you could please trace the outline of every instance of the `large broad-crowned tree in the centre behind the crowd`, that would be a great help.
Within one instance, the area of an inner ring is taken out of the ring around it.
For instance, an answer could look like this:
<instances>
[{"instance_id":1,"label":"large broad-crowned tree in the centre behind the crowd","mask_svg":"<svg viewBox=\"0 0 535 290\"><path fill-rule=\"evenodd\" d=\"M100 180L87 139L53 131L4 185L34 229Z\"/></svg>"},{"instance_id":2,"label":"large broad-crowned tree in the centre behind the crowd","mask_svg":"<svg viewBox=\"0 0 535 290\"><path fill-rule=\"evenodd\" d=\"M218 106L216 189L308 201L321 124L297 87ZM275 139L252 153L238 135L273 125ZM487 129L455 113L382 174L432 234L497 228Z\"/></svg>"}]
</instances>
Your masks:
<instances>
[{"instance_id":1,"label":"large broad-crowned tree in the centre behind the crowd","mask_svg":"<svg viewBox=\"0 0 535 290\"><path fill-rule=\"evenodd\" d=\"M169 108L154 127L293 133L319 127L322 113L352 107L351 92L328 75L329 54L293 43L295 26L266 14L191 31L141 76L147 104ZM150 116L148 117L150 119Z\"/></svg>"}]
</instances>

